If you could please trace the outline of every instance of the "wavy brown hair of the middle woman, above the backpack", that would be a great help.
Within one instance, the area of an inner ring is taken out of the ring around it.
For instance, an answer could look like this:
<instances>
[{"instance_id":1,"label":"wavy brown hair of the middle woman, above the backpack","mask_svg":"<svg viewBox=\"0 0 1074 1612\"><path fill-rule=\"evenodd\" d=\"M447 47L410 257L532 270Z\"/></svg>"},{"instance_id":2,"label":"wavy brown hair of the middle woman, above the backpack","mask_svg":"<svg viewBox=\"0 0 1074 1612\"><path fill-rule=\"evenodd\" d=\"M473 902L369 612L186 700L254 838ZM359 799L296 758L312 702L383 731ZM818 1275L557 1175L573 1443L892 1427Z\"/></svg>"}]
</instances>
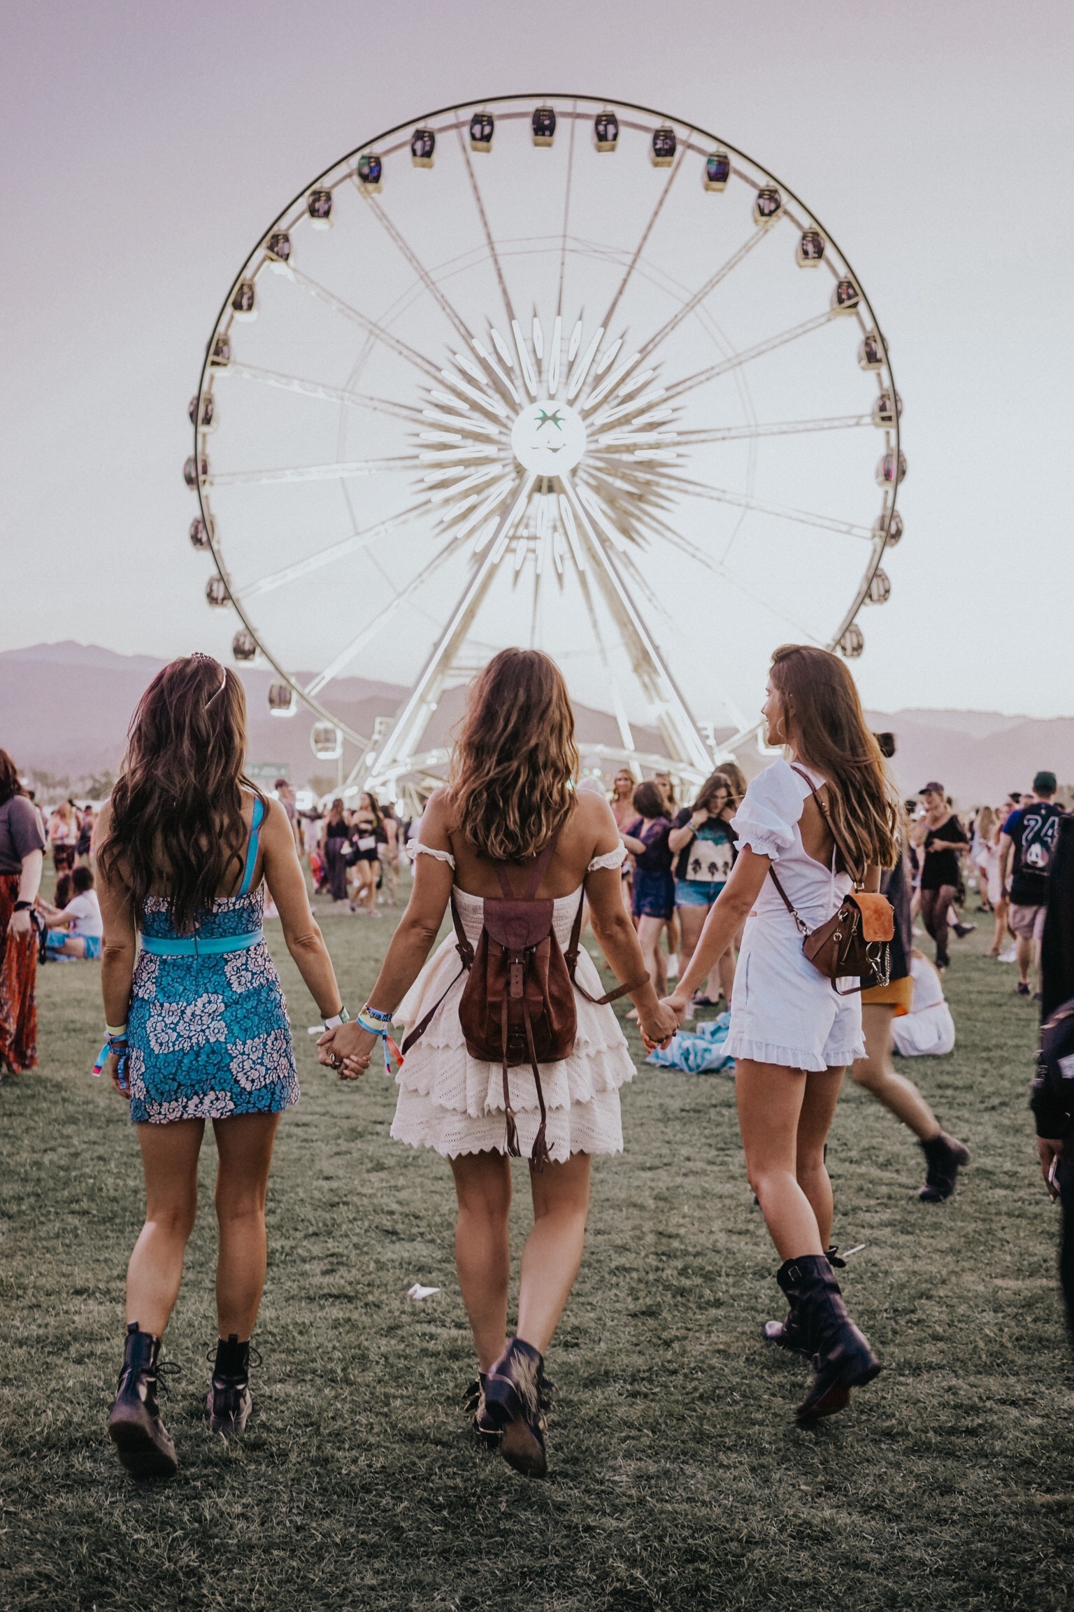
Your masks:
<instances>
[{"instance_id":1,"label":"wavy brown hair of the middle woman, above the backpack","mask_svg":"<svg viewBox=\"0 0 1074 1612\"><path fill-rule=\"evenodd\" d=\"M575 804L575 713L539 650L501 650L470 685L451 758L451 812L493 861L543 851Z\"/></svg>"}]
</instances>

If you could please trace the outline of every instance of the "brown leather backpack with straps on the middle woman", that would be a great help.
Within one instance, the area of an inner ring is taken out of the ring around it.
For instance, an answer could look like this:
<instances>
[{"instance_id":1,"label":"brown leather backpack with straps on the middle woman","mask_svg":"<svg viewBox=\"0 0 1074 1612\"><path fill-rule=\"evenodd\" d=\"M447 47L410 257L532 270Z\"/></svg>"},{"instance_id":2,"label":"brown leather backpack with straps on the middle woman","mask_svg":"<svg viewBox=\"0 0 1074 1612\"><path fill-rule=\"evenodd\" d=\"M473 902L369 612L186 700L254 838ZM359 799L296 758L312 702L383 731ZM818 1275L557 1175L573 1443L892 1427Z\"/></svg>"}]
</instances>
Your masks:
<instances>
[{"instance_id":1,"label":"brown leather backpack with straps on the middle woman","mask_svg":"<svg viewBox=\"0 0 1074 1612\"><path fill-rule=\"evenodd\" d=\"M578 949L581 938L581 909L585 890L578 893L578 911L567 943L567 954L559 948L552 917L556 903L536 899L544 869L547 867L559 835L541 851L530 869L525 895L515 896L506 862L494 862L502 898L485 898L485 922L478 937L477 949L467 940L467 933L459 919L454 895L451 896L451 919L456 927L456 951L462 959L462 969L448 987L469 974L462 998L459 1001L459 1022L465 1037L470 1057L486 1064L501 1064L504 1072L504 1112L507 1119L507 1153L520 1156L518 1130L515 1112L510 1106L510 1085L507 1070L518 1064L530 1064L536 1082L538 1106L541 1109L541 1125L533 1138L530 1159L535 1169L543 1169L547 1159L544 1091L541 1090L539 1064L557 1064L570 1057L575 1049L575 1033L578 1030L578 1014L575 1011L575 991L581 991L586 1001L596 1006L613 1003L626 991L638 990L647 983L649 975L620 985L604 996L589 996L589 991L578 985L575 969L578 967ZM448 995L444 991L444 996ZM425 1033L443 1003L440 998L425 1017L411 1030L403 1043L403 1056Z\"/></svg>"}]
</instances>

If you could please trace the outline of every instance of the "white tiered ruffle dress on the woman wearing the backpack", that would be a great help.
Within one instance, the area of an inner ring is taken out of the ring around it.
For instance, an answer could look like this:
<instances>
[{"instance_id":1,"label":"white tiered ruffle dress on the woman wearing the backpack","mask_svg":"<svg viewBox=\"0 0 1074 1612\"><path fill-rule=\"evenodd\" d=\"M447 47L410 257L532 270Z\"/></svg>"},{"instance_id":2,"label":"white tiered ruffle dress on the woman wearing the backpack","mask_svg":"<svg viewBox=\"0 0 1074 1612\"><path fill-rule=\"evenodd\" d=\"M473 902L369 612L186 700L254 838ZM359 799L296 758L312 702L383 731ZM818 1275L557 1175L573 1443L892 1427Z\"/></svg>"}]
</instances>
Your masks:
<instances>
[{"instance_id":1,"label":"white tiered ruffle dress on the woman wearing the backpack","mask_svg":"<svg viewBox=\"0 0 1074 1612\"><path fill-rule=\"evenodd\" d=\"M448 851L417 845L415 853L435 856L454 867ZM597 867L618 867L623 846L597 856ZM485 901L454 888L459 919L467 938L477 946L483 925ZM565 951L581 899L581 888L556 901L552 925ZM417 980L399 1004L396 1019L415 1025L443 996L461 969L454 930L436 948ZM456 980L425 1035L406 1054L396 1075L399 1101L391 1135L412 1148L435 1148L448 1159L461 1153L507 1151L504 1117L504 1074L501 1064L485 1064L467 1053L459 1024L459 998L465 974ZM604 985L593 958L583 946L578 953L578 983L591 996L602 996ZM564 1164L572 1153L622 1153L623 1124L618 1088L634 1075L626 1037L609 1004L596 1008L575 991L578 1033L570 1057L557 1064L541 1064L541 1088L547 1109L549 1157ZM518 1146L530 1156L541 1122L536 1083L528 1064L507 1072L510 1104L518 1127Z\"/></svg>"}]
</instances>

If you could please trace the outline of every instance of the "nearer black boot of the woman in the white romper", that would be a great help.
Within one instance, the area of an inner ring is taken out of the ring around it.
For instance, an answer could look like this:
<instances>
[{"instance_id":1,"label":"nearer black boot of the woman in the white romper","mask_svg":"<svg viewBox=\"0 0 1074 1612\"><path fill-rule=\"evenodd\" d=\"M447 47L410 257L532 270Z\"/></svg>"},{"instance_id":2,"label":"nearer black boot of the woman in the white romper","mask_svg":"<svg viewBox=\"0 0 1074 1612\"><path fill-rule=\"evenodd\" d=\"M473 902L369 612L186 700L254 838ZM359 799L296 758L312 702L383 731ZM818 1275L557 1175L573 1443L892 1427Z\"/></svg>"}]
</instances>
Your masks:
<instances>
[{"instance_id":1,"label":"nearer black boot of the woman in the white romper","mask_svg":"<svg viewBox=\"0 0 1074 1612\"><path fill-rule=\"evenodd\" d=\"M794 1412L800 1423L810 1423L844 1410L850 1390L871 1383L879 1375L881 1362L850 1320L823 1254L789 1259L783 1269L787 1273L784 1293L799 1312L813 1359L813 1386Z\"/></svg>"}]
</instances>

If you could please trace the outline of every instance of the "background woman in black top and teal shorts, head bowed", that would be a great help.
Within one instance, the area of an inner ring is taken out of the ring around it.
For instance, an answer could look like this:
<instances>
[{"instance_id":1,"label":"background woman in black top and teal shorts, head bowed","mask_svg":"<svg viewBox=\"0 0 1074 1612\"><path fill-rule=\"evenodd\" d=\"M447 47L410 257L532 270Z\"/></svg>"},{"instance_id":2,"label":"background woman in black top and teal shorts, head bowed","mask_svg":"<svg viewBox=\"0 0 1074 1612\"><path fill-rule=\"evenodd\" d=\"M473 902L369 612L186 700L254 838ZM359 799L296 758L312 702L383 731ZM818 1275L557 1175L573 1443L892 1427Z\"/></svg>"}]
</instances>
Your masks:
<instances>
[{"instance_id":1,"label":"background woman in black top and teal shorts, head bowed","mask_svg":"<svg viewBox=\"0 0 1074 1612\"><path fill-rule=\"evenodd\" d=\"M668 833L675 856L675 908L683 932L680 967L688 967L713 901L723 891L734 866L734 833L729 819L737 809L726 774L717 767L697 790L692 806L676 812ZM694 1008L712 1008L723 993L731 1004L734 985L734 945L717 961L713 975L692 998Z\"/></svg>"}]
</instances>

